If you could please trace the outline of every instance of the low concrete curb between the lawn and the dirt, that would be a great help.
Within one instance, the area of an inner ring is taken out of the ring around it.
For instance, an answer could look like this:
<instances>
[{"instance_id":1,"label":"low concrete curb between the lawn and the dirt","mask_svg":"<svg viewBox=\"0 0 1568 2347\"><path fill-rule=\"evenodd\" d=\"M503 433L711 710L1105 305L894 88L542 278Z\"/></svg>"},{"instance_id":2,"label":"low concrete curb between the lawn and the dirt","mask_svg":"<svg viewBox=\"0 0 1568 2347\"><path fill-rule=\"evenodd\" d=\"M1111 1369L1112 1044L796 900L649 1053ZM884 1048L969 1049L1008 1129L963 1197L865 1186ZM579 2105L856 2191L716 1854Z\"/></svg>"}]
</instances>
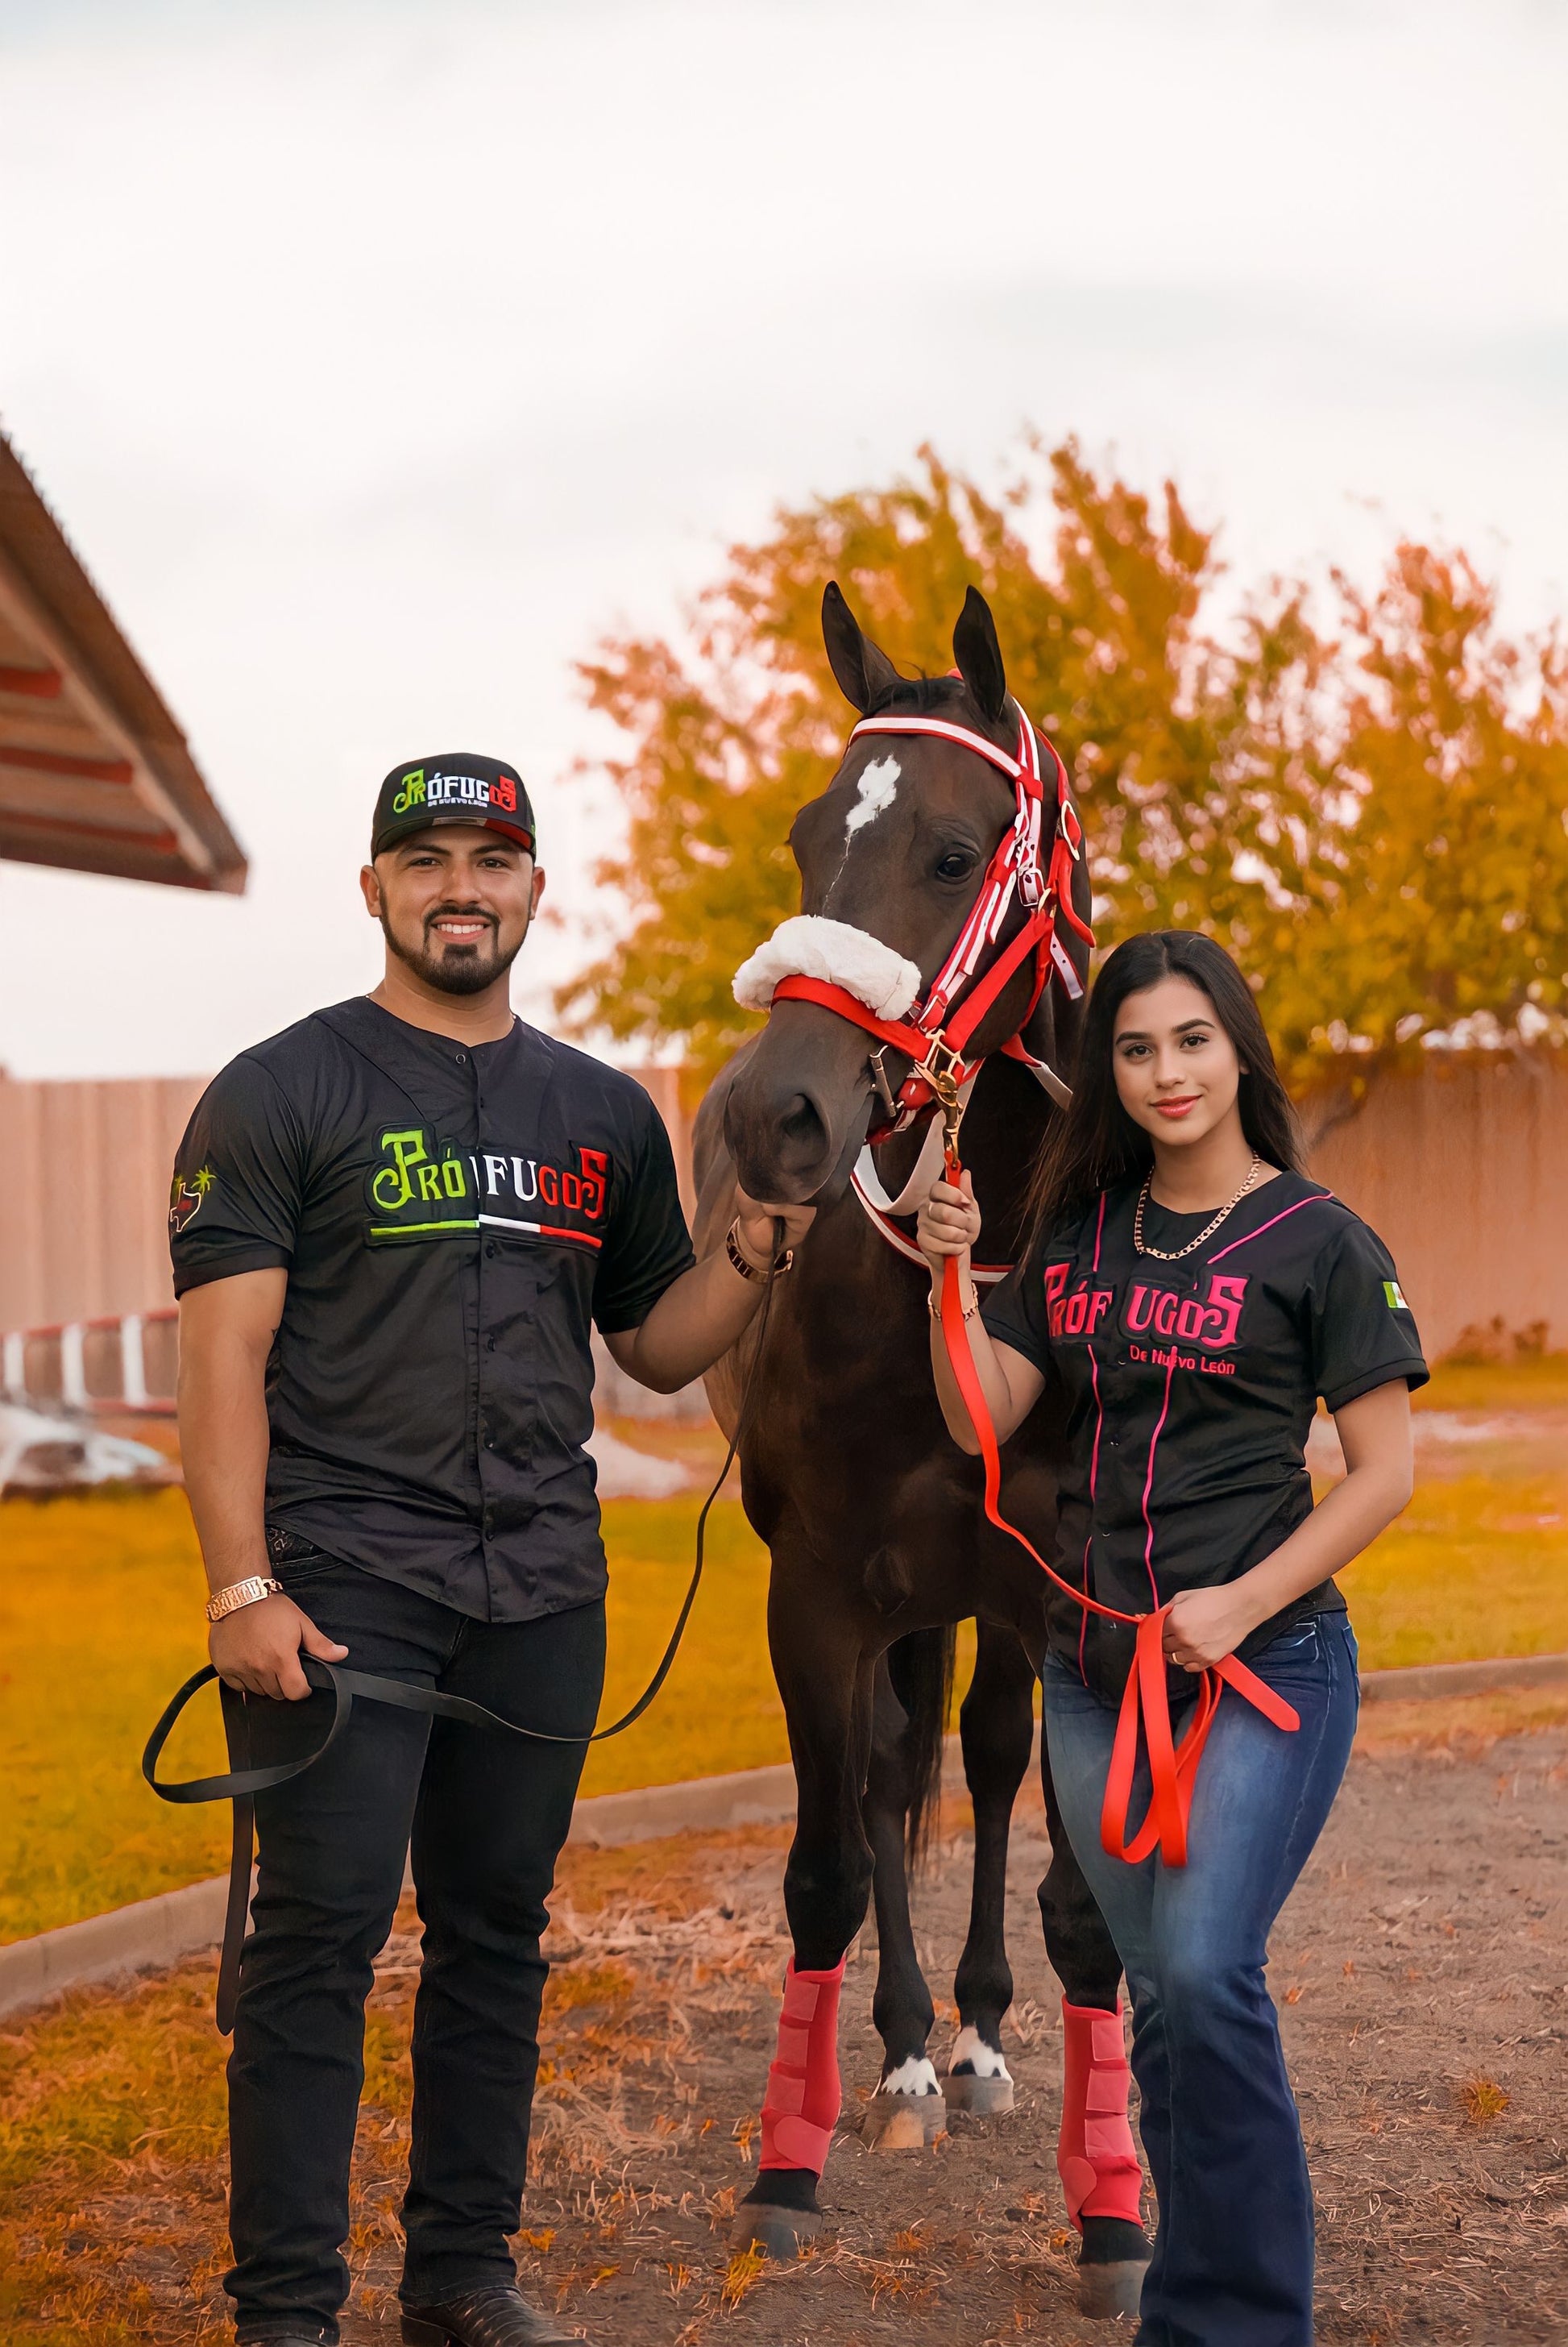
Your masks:
<instances>
[{"instance_id":1,"label":"low concrete curb between the lawn and the dirt","mask_svg":"<svg viewBox=\"0 0 1568 2347\"><path fill-rule=\"evenodd\" d=\"M1495 1662L1439 1662L1408 1671L1364 1671L1361 1702L1420 1702L1444 1695L1486 1695L1493 1687L1568 1685L1568 1655L1505 1655ZM1035 1727L1035 1739L1040 1730ZM962 1791L958 1737L948 1737L941 1781ZM728 1826L784 1826L796 1814L796 1774L789 1765L749 1767L688 1784L650 1784L636 1793L599 1793L573 1810L570 1840L589 1849L657 1842L667 1833L723 1833ZM115 1981L134 1971L178 1964L216 1948L223 1936L228 1875L190 1882L136 1906L68 1922L38 1939L0 1948L0 2021L47 2004L68 1988Z\"/></svg>"}]
</instances>

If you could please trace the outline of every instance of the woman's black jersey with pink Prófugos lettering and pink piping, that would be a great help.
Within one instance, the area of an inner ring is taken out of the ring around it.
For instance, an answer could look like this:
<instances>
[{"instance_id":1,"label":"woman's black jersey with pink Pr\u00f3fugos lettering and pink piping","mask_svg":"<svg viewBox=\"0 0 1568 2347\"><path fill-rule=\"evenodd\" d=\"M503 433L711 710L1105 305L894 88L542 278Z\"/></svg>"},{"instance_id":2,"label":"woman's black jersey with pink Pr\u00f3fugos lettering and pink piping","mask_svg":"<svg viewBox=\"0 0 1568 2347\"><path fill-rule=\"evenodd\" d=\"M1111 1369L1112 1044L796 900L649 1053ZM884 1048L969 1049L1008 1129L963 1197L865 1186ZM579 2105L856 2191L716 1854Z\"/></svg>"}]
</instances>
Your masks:
<instances>
[{"instance_id":1,"label":"woman's black jersey with pink Pr\u00f3fugos lettering and pink piping","mask_svg":"<svg viewBox=\"0 0 1568 2347\"><path fill-rule=\"evenodd\" d=\"M986 1328L1047 1378L1066 1408L1056 1570L1122 1612L1232 1582L1312 1511L1305 1443L1331 1411L1427 1364L1376 1232L1300 1174L1263 1183L1178 1263L1134 1249L1138 1190L1108 1190L1038 1246L986 1305ZM1153 1199L1143 1235L1167 1253L1209 1223ZM1333 1582L1303 1610L1343 1610ZM1120 1695L1131 1629L1049 1596L1052 1648ZM1190 1690L1176 1673L1174 1685Z\"/></svg>"}]
</instances>

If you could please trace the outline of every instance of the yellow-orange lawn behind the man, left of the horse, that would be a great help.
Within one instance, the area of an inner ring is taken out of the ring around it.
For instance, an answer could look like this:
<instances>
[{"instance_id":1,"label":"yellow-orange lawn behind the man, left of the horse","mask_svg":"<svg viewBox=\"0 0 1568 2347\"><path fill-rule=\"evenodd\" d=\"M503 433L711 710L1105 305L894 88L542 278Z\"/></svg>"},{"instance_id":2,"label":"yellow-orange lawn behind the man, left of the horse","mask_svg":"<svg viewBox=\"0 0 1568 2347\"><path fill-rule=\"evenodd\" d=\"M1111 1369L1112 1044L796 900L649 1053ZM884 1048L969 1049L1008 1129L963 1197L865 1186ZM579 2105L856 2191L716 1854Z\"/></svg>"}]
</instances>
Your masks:
<instances>
[{"instance_id":1,"label":"yellow-orange lawn behind the man, left of the horse","mask_svg":"<svg viewBox=\"0 0 1568 2347\"><path fill-rule=\"evenodd\" d=\"M641 1692L681 1605L697 1497L613 1500L603 1718ZM768 1666L768 1556L739 1502L709 1516L709 1568L660 1702L601 1744L587 1793L789 1758ZM0 1941L218 1873L228 1810L176 1810L138 1760L174 1687L207 1659L204 1580L181 1490L0 1502ZM610 1709L615 1706L615 1709ZM223 1765L216 1695L162 1772Z\"/></svg>"}]
</instances>

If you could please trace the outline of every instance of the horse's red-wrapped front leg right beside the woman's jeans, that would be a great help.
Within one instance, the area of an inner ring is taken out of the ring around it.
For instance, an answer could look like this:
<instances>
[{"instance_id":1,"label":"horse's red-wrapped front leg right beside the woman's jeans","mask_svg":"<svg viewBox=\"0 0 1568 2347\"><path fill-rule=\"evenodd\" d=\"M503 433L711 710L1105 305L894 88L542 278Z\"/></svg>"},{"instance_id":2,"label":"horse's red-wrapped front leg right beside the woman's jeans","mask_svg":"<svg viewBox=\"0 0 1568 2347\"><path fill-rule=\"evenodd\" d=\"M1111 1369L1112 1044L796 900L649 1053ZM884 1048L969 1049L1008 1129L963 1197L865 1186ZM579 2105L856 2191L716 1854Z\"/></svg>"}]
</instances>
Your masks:
<instances>
[{"instance_id":1,"label":"horse's red-wrapped front leg right beside the woman's jeans","mask_svg":"<svg viewBox=\"0 0 1568 2347\"><path fill-rule=\"evenodd\" d=\"M1061 2136L1056 2169L1068 2216L1082 2234L1077 2302L1113 2319L1138 2312L1153 2244L1141 2223L1143 2173L1131 2140L1131 2070L1122 2044L1122 1957L1082 1878L1040 1739L1040 1781L1052 1864L1040 1885L1045 1953L1061 1981Z\"/></svg>"}]
</instances>

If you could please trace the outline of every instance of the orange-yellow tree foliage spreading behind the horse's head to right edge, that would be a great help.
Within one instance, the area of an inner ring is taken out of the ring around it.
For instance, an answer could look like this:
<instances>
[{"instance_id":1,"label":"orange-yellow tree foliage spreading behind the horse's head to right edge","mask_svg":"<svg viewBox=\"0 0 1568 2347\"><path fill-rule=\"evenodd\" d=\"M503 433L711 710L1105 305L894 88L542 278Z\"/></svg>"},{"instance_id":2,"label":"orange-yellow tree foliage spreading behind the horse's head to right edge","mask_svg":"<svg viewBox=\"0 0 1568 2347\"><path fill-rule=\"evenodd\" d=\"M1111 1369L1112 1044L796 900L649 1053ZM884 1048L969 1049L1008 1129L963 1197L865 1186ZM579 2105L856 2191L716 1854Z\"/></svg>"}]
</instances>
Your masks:
<instances>
[{"instance_id":1,"label":"orange-yellow tree foliage spreading behind the horse's head to right edge","mask_svg":"<svg viewBox=\"0 0 1568 2347\"><path fill-rule=\"evenodd\" d=\"M1568 990L1568 692L1516 648L1460 556L1399 547L1371 598L1336 580L1216 617L1221 566L1176 488L1155 502L1080 448L1030 451L1002 498L930 451L887 488L782 509L735 547L690 643L613 641L582 667L620 728L624 852L599 880L627 934L559 1007L709 1073L756 1023L744 955L796 911L786 833L850 711L819 634L838 577L904 667L951 664L965 587L1009 685L1073 775L1101 943L1202 927L1263 988L1296 1082L1418 1037L1540 1030ZM1488 1028L1488 1021L1493 1023Z\"/></svg>"}]
</instances>

